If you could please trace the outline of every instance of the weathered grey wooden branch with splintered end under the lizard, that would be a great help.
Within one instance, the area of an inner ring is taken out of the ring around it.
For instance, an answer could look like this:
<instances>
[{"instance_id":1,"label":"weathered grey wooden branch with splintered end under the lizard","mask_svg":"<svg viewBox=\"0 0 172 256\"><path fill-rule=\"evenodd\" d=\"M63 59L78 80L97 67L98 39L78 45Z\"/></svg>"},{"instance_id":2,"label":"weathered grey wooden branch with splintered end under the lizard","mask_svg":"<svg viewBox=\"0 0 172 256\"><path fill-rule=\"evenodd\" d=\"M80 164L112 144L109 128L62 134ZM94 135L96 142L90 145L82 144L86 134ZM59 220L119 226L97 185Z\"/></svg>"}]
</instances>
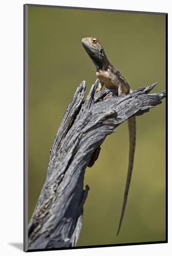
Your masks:
<instances>
[{"instance_id":1,"label":"weathered grey wooden branch with splintered end under the lizard","mask_svg":"<svg viewBox=\"0 0 172 256\"><path fill-rule=\"evenodd\" d=\"M133 115L148 112L166 97L166 91L148 94L156 83L121 97L112 96L108 89L95 95L97 82L83 101L83 81L66 109L51 149L47 178L29 223L29 249L76 245L89 191L88 185L83 190L85 168L94 164L100 145L114 128Z\"/></svg>"}]
</instances>

